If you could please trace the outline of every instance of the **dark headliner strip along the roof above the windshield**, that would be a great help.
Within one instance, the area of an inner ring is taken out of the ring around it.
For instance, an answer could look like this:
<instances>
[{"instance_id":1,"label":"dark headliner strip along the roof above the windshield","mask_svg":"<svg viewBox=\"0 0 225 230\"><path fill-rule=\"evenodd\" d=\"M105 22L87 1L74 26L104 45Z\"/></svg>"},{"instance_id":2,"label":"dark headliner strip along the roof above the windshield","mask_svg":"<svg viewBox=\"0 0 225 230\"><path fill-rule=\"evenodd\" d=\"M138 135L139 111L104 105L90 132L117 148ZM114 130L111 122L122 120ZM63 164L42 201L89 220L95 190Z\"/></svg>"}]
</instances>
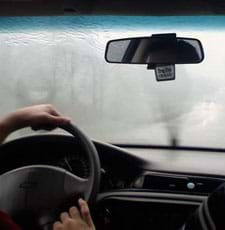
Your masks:
<instances>
[{"instance_id":1,"label":"dark headliner strip along the roof above the windshield","mask_svg":"<svg viewBox=\"0 0 225 230\"><path fill-rule=\"evenodd\" d=\"M0 0L0 15L224 15L225 0Z\"/></svg>"}]
</instances>

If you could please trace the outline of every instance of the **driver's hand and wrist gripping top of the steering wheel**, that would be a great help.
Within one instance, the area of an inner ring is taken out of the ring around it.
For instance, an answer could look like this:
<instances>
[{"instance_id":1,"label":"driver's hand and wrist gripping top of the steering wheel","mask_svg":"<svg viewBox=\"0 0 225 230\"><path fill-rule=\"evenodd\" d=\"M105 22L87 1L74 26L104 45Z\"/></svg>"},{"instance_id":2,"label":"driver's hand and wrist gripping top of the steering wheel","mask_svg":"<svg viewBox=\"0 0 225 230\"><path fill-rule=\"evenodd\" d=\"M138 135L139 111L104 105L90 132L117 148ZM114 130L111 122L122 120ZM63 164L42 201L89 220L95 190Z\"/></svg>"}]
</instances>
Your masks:
<instances>
[{"instance_id":1,"label":"driver's hand and wrist gripping top of the steering wheel","mask_svg":"<svg viewBox=\"0 0 225 230\"><path fill-rule=\"evenodd\" d=\"M69 122L70 119L61 116L52 105L34 105L18 109L0 118L0 143L17 129L30 126L34 130L51 130Z\"/></svg>"}]
</instances>

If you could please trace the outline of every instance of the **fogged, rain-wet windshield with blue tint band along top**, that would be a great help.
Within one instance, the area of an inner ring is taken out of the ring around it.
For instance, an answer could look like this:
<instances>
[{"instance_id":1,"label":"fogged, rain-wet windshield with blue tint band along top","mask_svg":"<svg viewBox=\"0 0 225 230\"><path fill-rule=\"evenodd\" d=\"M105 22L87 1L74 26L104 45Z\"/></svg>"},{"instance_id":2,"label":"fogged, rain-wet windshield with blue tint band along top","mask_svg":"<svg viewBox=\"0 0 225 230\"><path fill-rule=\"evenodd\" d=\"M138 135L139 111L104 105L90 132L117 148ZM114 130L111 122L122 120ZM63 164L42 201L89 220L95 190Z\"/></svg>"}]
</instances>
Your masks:
<instances>
[{"instance_id":1,"label":"fogged, rain-wet windshield with blue tint band along top","mask_svg":"<svg viewBox=\"0 0 225 230\"><path fill-rule=\"evenodd\" d=\"M0 19L0 115L51 103L95 139L225 147L225 17ZM157 82L145 65L109 64L108 40L177 33L201 40L201 64ZM58 131L57 131L58 132ZM30 133L19 131L15 135Z\"/></svg>"}]
</instances>

